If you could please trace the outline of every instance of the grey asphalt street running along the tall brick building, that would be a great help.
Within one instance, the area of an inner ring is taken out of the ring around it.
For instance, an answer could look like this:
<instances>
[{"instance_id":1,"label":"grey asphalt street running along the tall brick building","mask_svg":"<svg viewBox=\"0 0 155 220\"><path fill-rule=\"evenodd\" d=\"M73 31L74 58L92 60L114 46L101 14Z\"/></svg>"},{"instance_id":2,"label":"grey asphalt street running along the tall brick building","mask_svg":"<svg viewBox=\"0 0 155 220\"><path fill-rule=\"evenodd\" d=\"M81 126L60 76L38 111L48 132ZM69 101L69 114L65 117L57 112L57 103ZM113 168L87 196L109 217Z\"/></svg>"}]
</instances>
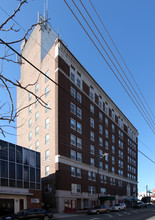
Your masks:
<instances>
[{"instance_id":1,"label":"grey asphalt street running along the tall brick building","mask_svg":"<svg viewBox=\"0 0 155 220\"><path fill-rule=\"evenodd\" d=\"M149 206L147 208L141 209L128 209L121 212L110 212L109 214L99 214L99 215L88 215L88 214L75 214L67 215L61 217L54 217L54 219L65 219L65 220L155 220L155 206Z\"/></svg>"}]
</instances>

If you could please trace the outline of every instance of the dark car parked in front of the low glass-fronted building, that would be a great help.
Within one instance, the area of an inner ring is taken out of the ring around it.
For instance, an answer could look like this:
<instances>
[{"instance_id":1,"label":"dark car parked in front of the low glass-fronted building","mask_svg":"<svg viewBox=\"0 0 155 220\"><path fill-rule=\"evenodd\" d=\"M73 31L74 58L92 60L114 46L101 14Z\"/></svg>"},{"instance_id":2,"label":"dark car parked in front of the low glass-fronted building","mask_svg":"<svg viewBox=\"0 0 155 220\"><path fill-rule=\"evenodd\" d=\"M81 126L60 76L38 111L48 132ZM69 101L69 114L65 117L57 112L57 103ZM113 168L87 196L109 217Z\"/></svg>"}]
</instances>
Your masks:
<instances>
[{"instance_id":1,"label":"dark car parked in front of the low glass-fronted building","mask_svg":"<svg viewBox=\"0 0 155 220\"><path fill-rule=\"evenodd\" d=\"M53 213L45 209L25 209L12 215L0 217L0 220L20 220L20 219L43 219L49 220L53 218Z\"/></svg>"}]
</instances>

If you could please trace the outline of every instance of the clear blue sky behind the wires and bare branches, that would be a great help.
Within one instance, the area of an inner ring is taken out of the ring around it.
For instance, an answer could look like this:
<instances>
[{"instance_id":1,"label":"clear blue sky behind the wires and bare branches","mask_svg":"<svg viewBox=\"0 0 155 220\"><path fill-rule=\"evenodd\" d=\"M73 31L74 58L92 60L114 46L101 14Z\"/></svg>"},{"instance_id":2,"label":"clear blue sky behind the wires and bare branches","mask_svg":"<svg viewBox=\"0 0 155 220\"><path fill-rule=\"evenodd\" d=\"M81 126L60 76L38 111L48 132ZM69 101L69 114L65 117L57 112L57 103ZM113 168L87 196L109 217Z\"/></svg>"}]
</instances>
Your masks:
<instances>
[{"instance_id":1,"label":"clear blue sky behind the wires and bare branches","mask_svg":"<svg viewBox=\"0 0 155 220\"><path fill-rule=\"evenodd\" d=\"M67 2L73 7L71 0ZM75 2L78 3L82 10L79 1L75 0ZM115 48L108 39L108 35L105 33L101 23L95 16L89 1L83 2L87 6L89 12L92 13L94 21L99 26L118 61L121 62ZM152 112L155 114L155 1L92 0L92 3L126 61ZM12 14L17 6L18 1L16 0L1 1L0 3L0 7L8 14ZM7 18L6 13L1 8L0 24ZM73 9L75 10L75 7L73 7ZM15 17L15 20L24 30L27 30L27 28L37 22L38 11L43 14L44 0L31 0L22 7L20 13ZM79 14L77 15L80 17ZM137 128L139 132L139 150L154 160L154 133L136 109L135 105L104 62L92 42L86 36L63 0L49 0L48 17L50 18L50 24L53 29L59 32L59 36L63 39L71 52ZM19 28L18 25L16 25L16 27ZM17 34L18 36L22 36L24 33L22 28L20 28L20 32ZM3 39L6 38L4 33L0 33L0 35ZM9 40L16 36L13 32L10 32L7 34L7 39ZM17 45L15 48L20 51L20 45ZM0 54L1 53L2 50ZM123 66L122 62L121 65ZM18 80L20 77L19 66L10 63L4 63L4 72L14 80ZM131 79L129 75L128 77ZM7 100L8 96L3 89L0 90L0 93L0 103L3 103L4 97L5 100ZM16 90L14 88L12 89L12 94L16 103ZM8 105L6 104L6 106ZM16 130L14 129L8 129L7 131L16 134ZM15 135L7 135L6 138L0 135L0 138L16 143ZM151 161L146 159L143 155L138 154L139 191L145 191L146 185L148 185L148 188L151 190L155 188L154 168L155 166Z\"/></svg>"}]
</instances>

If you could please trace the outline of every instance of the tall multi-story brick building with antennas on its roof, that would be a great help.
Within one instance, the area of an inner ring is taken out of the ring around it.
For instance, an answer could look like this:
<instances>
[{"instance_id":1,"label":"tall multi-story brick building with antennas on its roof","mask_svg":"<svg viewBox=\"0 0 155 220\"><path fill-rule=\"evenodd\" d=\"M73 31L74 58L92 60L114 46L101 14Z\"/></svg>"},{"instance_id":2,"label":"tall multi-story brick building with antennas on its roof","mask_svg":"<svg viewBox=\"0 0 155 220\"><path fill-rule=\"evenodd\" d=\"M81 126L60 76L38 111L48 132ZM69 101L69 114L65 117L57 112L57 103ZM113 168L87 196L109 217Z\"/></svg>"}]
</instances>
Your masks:
<instances>
[{"instance_id":1,"label":"tall multi-story brick building with antennas on its roof","mask_svg":"<svg viewBox=\"0 0 155 220\"><path fill-rule=\"evenodd\" d=\"M107 204L136 197L136 128L48 23L21 51L47 76L23 61L20 82L36 82L29 88L50 109L17 90L17 108L29 105L17 119L17 142L41 153L44 205L64 212L92 207L98 196Z\"/></svg>"}]
</instances>

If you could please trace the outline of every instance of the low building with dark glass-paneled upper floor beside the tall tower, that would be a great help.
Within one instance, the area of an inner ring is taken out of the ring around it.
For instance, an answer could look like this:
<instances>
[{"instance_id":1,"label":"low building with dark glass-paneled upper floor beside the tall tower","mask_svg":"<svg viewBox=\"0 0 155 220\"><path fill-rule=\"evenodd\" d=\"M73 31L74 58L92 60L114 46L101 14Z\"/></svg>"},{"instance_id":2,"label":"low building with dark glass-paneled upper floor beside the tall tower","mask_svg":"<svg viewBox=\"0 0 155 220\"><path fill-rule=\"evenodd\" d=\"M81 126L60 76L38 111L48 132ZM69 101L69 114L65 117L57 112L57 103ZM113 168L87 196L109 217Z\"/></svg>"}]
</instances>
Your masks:
<instances>
[{"instance_id":1,"label":"low building with dark glass-paneled upper floor beside the tall tower","mask_svg":"<svg viewBox=\"0 0 155 220\"><path fill-rule=\"evenodd\" d=\"M40 153L0 140L0 216L41 206Z\"/></svg>"}]
</instances>

